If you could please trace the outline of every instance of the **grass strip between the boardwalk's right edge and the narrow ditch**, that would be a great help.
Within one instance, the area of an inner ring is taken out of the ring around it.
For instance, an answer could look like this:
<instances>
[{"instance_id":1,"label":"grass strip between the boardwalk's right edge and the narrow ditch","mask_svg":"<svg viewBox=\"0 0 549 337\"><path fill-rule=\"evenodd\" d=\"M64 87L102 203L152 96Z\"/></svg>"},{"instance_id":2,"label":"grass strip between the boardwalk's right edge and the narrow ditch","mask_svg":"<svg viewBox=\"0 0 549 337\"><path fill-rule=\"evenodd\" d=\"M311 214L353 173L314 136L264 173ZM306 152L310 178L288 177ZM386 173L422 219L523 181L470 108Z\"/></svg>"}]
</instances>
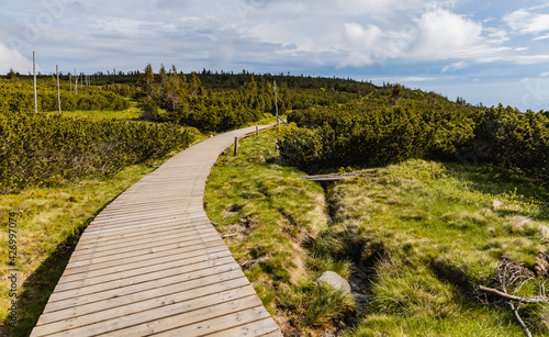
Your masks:
<instances>
[{"instance_id":1,"label":"grass strip between the boardwalk's right edge and the narrow ditch","mask_svg":"<svg viewBox=\"0 0 549 337\"><path fill-rule=\"evenodd\" d=\"M327 228L324 191L280 164L279 132L245 138L236 157L233 148L220 157L206 183L205 210L283 333L314 334L354 304L313 280L325 270L349 276L349 263L309 252Z\"/></svg>"}]
</instances>

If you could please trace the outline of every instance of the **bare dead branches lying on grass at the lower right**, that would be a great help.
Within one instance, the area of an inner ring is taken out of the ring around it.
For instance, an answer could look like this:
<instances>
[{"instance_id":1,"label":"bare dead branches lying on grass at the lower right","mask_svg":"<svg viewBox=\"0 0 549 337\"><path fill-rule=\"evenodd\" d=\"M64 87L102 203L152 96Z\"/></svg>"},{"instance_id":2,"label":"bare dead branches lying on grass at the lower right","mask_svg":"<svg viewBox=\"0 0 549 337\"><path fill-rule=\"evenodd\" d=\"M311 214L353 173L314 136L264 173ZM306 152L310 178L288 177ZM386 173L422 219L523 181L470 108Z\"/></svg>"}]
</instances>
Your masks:
<instances>
[{"instance_id":1,"label":"bare dead branches lying on grass at the lower right","mask_svg":"<svg viewBox=\"0 0 549 337\"><path fill-rule=\"evenodd\" d=\"M518 296L517 293L524 288L526 283L533 281L535 274L531 270L526 268L524 263L509 262L507 260L502 260L497 265L496 276L492 278L495 281L498 289L488 288L483 285L475 287L477 296L485 304L505 304L515 321L520 325L523 332L526 336L531 337L530 327L524 322L518 313L518 308L523 304L535 304L535 303L549 303L549 297L546 295L546 282L542 282L539 287L539 294L537 296ZM498 299L496 302L490 302L488 294ZM534 323L539 322L541 318Z\"/></svg>"}]
</instances>

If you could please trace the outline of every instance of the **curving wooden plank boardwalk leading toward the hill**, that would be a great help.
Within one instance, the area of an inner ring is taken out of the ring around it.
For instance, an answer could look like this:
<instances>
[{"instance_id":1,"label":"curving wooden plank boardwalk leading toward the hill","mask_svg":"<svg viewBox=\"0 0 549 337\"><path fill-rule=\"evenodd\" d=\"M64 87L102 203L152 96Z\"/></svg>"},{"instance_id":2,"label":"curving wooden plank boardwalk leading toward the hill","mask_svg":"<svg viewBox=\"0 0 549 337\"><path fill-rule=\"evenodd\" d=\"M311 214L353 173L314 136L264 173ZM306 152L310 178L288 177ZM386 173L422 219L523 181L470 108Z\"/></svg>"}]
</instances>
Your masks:
<instances>
[{"instance_id":1,"label":"curving wooden plank boardwalk leading toward the hill","mask_svg":"<svg viewBox=\"0 0 549 337\"><path fill-rule=\"evenodd\" d=\"M217 156L255 130L188 148L107 206L31 336L282 336L203 210Z\"/></svg>"}]
</instances>

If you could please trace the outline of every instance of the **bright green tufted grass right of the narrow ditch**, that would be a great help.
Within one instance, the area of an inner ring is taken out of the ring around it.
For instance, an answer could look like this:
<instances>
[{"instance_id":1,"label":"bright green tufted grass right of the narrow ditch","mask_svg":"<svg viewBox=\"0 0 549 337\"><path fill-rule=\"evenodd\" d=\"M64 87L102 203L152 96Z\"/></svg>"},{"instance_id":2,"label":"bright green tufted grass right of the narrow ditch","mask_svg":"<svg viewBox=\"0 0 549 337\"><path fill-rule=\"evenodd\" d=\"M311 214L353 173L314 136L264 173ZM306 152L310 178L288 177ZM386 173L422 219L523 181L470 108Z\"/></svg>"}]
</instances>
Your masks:
<instances>
[{"instance_id":1,"label":"bright green tufted grass right of the narrow ditch","mask_svg":"<svg viewBox=\"0 0 549 337\"><path fill-rule=\"evenodd\" d=\"M522 334L509 313L471 293L494 287L488 279L506 259L537 272L519 295L537 294L548 266L544 187L493 167L424 160L359 173L330 190L335 225L313 245L369 273L368 314L349 336ZM536 319L547 308L523 314ZM542 318L536 326L547 333Z\"/></svg>"}]
</instances>

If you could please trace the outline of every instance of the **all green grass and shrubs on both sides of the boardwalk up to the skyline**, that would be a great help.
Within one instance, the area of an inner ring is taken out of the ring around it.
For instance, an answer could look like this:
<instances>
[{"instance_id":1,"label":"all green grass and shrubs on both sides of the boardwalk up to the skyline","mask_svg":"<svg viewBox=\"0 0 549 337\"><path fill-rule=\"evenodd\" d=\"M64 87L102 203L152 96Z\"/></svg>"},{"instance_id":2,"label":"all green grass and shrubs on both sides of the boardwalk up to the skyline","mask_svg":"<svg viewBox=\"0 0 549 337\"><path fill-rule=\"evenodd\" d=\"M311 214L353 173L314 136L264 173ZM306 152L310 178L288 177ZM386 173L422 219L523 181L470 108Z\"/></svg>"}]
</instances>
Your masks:
<instances>
[{"instance_id":1,"label":"all green grass and shrubs on both sides of the boardwalk up to the skyline","mask_svg":"<svg viewBox=\"0 0 549 337\"><path fill-rule=\"evenodd\" d=\"M15 212L24 282L21 324L8 333L27 335L104 205L200 132L271 120L274 81L293 123L221 156L205 209L284 333L515 336L506 304L478 287L525 297L545 290L548 112L282 74L147 66L89 79L77 93L61 77L61 116L52 76L38 77L38 114L30 77L0 79L0 247L8 261ZM358 178L299 179L349 166ZM354 296L314 282L327 270L349 280ZM518 281L502 287L502 272ZM547 304L517 306L535 334L549 335Z\"/></svg>"}]
</instances>

